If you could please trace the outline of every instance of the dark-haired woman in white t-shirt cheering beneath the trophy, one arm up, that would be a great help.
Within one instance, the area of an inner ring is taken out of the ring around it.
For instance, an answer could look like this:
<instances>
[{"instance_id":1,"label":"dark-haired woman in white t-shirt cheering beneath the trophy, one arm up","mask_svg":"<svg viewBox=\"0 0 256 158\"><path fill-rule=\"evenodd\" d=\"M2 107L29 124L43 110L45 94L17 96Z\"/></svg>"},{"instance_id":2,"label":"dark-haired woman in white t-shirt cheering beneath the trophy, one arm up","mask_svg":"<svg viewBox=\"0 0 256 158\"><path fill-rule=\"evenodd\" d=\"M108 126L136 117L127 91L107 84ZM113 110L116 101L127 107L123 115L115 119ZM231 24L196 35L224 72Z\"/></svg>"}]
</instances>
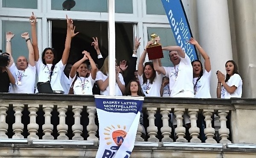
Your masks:
<instances>
[{"instance_id":1,"label":"dark-haired woman in white t-shirt cheering beneath the trophy, one arm up","mask_svg":"<svg viewBox=\"0 0 256 158\"><path fill-rule=\"evenodd\" d=\"M148 42L148 45L152 44L152 41ZM144 49L140 56L138 65L138 79L145 96L159 96L163 76L154 70L153 62L145 62L147 50ZM160 62L160 61L159 61Z\"/></svg>"}]
</instances>

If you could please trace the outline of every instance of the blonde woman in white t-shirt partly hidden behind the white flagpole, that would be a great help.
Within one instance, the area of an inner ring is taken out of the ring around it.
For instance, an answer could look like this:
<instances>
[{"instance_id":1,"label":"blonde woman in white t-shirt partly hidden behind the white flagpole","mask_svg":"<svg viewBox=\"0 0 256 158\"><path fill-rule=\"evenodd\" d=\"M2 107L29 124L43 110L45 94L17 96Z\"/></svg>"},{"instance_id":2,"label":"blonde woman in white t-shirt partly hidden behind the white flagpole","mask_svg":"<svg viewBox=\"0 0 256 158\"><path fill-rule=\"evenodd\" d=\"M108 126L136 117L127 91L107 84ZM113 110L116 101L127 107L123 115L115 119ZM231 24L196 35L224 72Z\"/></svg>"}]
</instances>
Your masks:
<instances>
[{"instance_id":1,"label":"blonde woman in white t-shirt partly hidden behind the white flagpole","mask_svg":"<svg viewBox=\"0 0 256 158\"><path fill-rule=\"evenodd\" d=\"M117 65L117 64L116 64ZM125 82L121 73L120 68L116 66L116 96L122 96L125 94ZM96 83L99 86L100 94L109 95L109 77L108 77L108 56L104 60L103 66L96 74Z\"/></svg>"}]
</instances>

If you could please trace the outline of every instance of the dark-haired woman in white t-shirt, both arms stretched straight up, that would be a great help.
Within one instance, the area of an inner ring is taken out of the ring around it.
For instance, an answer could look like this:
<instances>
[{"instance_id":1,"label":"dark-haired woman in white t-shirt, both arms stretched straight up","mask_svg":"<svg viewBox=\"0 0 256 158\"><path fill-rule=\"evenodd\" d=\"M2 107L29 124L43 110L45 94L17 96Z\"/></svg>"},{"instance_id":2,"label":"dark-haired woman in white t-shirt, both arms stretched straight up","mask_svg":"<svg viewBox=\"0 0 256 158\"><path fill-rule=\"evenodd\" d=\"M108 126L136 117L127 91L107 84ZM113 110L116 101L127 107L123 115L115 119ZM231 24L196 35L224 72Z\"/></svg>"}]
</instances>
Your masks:
<instances>
[{"instance_id":1,"label":"dark-haired woman in white t-shirt, both arms stretched straight up","mask_svg":"<svg viewBox=\"0 0 256 158\"><path fill-rule=\"evenodd\" d=\"M61 86L61 74L67 64L67 59L70 53L71 39L78 33L74 33L73 20L67 17L67 36L65 41L65 48L62 54L61 60L56 64L55 58L57 56L54 48L45 48L41 60L39 60L39 49L36 36L36 18L32 12L32 16L29 18L31 24L32 43L35 51L35 66L38 74L38 82L50 81L52 90L54 93L64 93L64 89ZM52 73L52 76L51 76ZM38 93L36 89L35 93Z\"/></svg>"}]
</instances>

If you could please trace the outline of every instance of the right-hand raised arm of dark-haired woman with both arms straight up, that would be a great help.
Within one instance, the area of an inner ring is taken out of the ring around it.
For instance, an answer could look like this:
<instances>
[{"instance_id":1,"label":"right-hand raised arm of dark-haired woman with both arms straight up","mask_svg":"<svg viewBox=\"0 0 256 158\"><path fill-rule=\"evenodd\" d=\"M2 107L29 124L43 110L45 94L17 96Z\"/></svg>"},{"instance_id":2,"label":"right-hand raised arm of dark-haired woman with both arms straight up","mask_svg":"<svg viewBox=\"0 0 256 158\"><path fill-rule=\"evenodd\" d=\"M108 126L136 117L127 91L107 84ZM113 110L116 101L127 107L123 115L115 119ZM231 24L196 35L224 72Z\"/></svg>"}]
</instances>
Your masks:
<instances>
[{"instance_id":1,"label":"right-hand raised arm of dark-haired woman with both arms straight up","mask_svg":"<svg viewBox=\"0 0 256 158\"><path fill-rule=\"evenodd\" d=\"M70 44L71 44L71 34L73 31L73 20L67 17L66 15L66 20L67 20L67 36L66 36L66 41L65 41L65 48L62 54L62 64L66 65L67 64L67 59L70 53Z\"/></svg>"}]
</instances>

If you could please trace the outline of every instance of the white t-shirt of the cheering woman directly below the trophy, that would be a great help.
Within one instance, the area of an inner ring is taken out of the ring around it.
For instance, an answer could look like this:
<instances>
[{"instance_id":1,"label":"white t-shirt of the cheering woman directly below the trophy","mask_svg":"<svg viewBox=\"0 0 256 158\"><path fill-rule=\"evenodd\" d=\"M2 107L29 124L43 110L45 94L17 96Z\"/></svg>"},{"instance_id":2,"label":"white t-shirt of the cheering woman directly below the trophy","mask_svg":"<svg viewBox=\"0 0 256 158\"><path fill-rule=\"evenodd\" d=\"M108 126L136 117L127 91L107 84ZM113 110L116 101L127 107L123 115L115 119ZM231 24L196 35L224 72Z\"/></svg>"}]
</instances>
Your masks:
<instances>
[{"instance_id":1,"label":"white t-shirt of the cheering woman directly below the trophy","mask_svg":"<svg viewBox=\"0 0 256 158\"><path fill-rule=\"evenodd\" d=\"M156 72L156 78L154 79L152 84L149 82L149 79L147 79L147 82L143 84L143 74L141 76L138 75L138 79L145 96L160 97L160 89L161 89L161 84L163 79L162 74L158 74ZM146 93L147 91L148 91L148 94Z\"/></svg>"}]
</instances>

